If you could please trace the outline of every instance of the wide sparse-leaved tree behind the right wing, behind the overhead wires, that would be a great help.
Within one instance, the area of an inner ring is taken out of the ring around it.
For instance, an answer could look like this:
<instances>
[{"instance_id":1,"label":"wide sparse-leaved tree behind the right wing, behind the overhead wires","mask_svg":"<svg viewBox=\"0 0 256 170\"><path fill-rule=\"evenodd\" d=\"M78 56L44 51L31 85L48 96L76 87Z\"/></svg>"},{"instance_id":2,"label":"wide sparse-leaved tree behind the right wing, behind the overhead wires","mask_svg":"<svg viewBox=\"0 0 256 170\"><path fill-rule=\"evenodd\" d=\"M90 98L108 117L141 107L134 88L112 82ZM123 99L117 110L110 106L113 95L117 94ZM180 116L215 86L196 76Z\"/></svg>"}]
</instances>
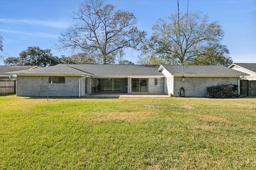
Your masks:
<instances>
[{"instance_id":1,"label":"wide sparse-leaved tree behind the right wing, behind the overhead wires","mask_svg":"<svg viewBox=\"0 0 256 170\"><path fill-rule=\"evenodd\" d=\"M172 14L169 19L169 23L159 19L153 27L148 48L154 55L172 64L223 64L219 60L231 61L227 47L220 44L223 31L217 22L209 23L207 16L197 13L180 14L179 18L178 14ZM219 49L225 50L219 53Z\"/></svg>"}]
</instances>

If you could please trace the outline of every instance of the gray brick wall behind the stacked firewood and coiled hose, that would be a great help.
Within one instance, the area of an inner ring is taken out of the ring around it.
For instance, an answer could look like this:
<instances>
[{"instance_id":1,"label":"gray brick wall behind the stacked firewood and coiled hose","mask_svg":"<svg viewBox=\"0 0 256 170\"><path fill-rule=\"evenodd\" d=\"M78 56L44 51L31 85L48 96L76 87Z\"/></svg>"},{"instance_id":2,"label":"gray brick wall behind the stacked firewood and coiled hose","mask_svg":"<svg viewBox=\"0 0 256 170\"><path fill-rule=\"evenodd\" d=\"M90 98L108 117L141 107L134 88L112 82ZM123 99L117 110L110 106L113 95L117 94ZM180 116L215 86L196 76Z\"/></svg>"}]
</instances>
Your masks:
<instances>
[{"instance_id":1,"label":"gray brick wall behind the stacked firewood and coiled hose","mask_svg":"<svg viewBox=\"0 0 256 170\"><path fill-rule=\"evenodd\" d=\"M179 96L180 88L185 89L185 97L208 97L206 88L222 84L238 84L239 78L174 77L174 96Z\"/></svg>"}]
</instances>

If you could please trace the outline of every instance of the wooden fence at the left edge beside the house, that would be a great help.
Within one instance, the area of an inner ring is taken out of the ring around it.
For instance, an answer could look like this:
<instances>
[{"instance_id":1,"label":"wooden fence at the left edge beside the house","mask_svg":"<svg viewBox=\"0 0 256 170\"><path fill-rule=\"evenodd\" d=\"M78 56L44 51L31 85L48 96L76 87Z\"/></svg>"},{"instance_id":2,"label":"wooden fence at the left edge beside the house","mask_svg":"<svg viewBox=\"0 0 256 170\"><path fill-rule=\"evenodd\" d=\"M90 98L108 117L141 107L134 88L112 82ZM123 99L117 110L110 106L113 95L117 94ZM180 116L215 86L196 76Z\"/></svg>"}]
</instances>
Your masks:
<instances>
[{"instance_id":1,"label":"wooden fence at the left edge beside the house","mask_svg":"<svg viewBox=\"0 0 256 170\"><path fill-rule=\"evenodd\" d=\"M16 80L0 80L0 94L15 94Z\"/></svg>"}]
</instances>

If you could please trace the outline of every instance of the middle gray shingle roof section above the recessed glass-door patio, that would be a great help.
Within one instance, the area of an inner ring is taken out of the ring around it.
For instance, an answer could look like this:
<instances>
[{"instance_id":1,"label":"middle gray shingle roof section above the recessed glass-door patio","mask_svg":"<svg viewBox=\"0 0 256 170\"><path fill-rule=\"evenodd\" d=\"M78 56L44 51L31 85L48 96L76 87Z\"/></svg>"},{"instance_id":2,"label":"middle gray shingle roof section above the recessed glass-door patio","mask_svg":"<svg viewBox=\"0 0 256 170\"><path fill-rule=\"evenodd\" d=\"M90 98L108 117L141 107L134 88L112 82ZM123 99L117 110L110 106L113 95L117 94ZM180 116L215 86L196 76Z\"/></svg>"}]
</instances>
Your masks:
<instances>
[{"instance_id":1,"label":"middle gray shingle roof section above the recessed glass-door patio","mask_svg":"<svg viewBox=\"0 0 256 170\"><path fill-rule=\"evenodd\" d=\"M162 75L159 65L122 65L122 64L69 64L75 69L97 76L118 75Z\"/></svg>"}]
</instances>

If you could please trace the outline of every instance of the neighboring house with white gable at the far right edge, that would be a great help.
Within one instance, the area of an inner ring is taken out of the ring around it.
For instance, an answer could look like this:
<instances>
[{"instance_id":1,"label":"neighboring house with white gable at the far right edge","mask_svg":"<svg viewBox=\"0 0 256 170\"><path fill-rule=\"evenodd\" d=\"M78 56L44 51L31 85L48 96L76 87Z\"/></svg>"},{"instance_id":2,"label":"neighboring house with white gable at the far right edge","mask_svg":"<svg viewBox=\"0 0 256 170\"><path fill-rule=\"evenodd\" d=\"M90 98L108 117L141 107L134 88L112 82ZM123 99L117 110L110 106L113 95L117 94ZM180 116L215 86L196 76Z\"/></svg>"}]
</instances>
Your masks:
<instances>
[{"instance_id":1,"label":"neighboring house with white gable at the far right edge","mask_svg":"<svg viewBox=\"0 0 256 170\"><path fill-rule=\"evenodd\" d=\"M242 77L243 80L256 80L256 63L233 63L229 68L249 74Z\"/></svg>"}]
</instances>

